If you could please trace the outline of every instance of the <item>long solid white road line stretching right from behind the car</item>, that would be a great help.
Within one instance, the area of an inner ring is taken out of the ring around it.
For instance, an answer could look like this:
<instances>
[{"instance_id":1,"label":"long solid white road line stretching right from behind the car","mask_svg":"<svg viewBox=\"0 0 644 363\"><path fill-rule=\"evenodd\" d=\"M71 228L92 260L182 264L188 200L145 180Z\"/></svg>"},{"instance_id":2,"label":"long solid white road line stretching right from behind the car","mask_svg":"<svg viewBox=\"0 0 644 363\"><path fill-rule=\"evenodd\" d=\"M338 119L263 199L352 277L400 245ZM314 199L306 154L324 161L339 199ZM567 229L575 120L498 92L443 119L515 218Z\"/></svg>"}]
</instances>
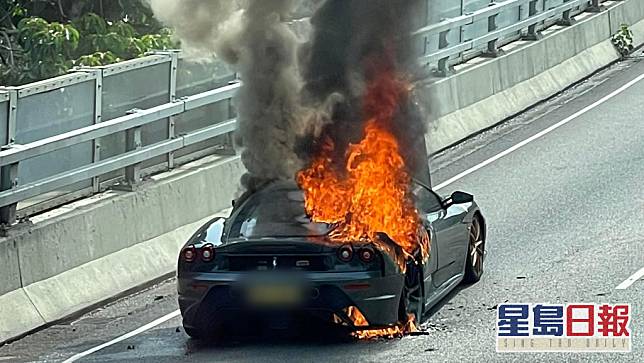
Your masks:
<instances>
[{"instance_id":1,"label":"long solid white road line stretching right from behind the car","mask_svg":"<svg viewBox=\"0 0 644 363\"><path fill-rule=\"evenodd\" d=\"M539 138L551 133L552 131L560 128L561 126L563 126L563 125L567 124L568 122L578 118L579 116L581 116L581 115L585 114L586 112L596 108L597 106L600 106L601 104L605 103L606 101L612 99L613 97L615 97L615 96L619 95L620 93L626 91L627 89L633 87L636 83L638 83L639 81L641 81L643 79L644 79L644 74L640 75L639 77L635 78L634 80L628 82L627 84L625 84L622 87L618 88L617 90L613 91L612 93L608 94L607 96L605 96L604 98L600 99L599 101L597 101L597 102L595 102L595 103L583 108L582 110L580 110L580 111L572 114L571 116L569 116L569 117L557 122L556 124L554 124L554 125L548 127L547 129L535 134L534 136L531 136L531 137L521 141L520 143L512 146L511 148L509 148L509 149L507 149L507 150L505 150L505 151L503 151L503 152L501 152L501 153L499 153L499 154L497 154L497 155L485 160L484 162L482 162L482 163L480 163L480 164L478 164L478 165L476 165L476 166L474 166L474 167L472 167L470 169L467 169L467 170L465 170L464 172L462 172L460 174L457 174L453 178L450 178L450 179L438 184L434 189L439 190L439 189L445 188L445 187L449 186L450 184L458 181L459 179L462 179L462 178L472 174L473 172L475 172L475 171L477 171L477 170L479 170L479 169L481 169L481 168L483 168L483 167L485 167L487 165L492 164L493 162L501 159L502 157L507 156L507 155L517 151L518 149L520 149L520 148L528 145L529 143L531 143L531 142L533 142L533 141L535 141L535 140L537 140L537 139L539 139Z\"/></svg>"}]
</instances>

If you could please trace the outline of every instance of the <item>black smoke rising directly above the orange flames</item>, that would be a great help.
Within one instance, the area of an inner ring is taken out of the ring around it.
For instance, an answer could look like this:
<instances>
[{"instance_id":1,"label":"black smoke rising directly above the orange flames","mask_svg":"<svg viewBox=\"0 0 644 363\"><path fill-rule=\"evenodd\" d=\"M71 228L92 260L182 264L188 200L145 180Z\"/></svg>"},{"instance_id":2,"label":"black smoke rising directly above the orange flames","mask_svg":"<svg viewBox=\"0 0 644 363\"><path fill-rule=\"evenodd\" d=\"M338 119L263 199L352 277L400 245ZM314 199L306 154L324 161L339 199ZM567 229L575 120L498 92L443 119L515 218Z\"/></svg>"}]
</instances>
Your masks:
<instances>
[{"instance_id":1,"label":"black smoke rising directly above the orange flames","mask_svg":"<svg viewBox=\"0 0 644 363\"><path fill-rule=\"evenodd\" d=\"M336 143L338 159L349 143L363 136L366 118L361 101L375 72L394 71L411 81L416 56L410 34L419 27L414 15L426 11L423 4L426 1L327 0L312 18L311 40L300 52L304 103L316 107L328 104L330 98L342 100L323 131ZM400 105L394 121L392 131L410 172L429 182L425 123L413 94ZM306 158L311 149L315 141L300 155Z\"/></svg>"}]
</instances>

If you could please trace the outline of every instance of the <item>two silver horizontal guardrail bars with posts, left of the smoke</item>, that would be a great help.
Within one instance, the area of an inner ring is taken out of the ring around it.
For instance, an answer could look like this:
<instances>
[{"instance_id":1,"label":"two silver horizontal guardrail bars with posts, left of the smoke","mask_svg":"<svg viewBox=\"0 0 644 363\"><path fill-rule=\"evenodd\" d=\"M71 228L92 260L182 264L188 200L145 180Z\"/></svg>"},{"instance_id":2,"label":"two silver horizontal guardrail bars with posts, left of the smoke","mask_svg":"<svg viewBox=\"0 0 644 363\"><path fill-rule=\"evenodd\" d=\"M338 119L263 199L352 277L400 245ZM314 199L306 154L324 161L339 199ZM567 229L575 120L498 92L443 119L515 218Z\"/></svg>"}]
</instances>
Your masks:
<instances>
[{"instance_id":1,"label":"two silver horizontal guardrail bars with posts, left of the smoke","mask_svg":"<svg viewBox=\"0 0 644 363\"><path fill-rule=\"evenodd\" d=\"M186 146L195 145L213 137L235 131L237 121L236 119L230 119L150 146L141 146L141 127L143 125L230 99L238 88L239 84L233 84L147 110L135 110L123 117L38 140L27 145L12 144L8 150L0 152L0 166L7 167L6 172L9 173L12 180L11 188L0 192L0 206L2 206L0 216L6 218L3 222L15 221L15 205L22 200L83 180L92 179L111 171L126 168L126 183L134 186L141 180L140 163L143 161L167 155ZM18 166L22 161L83 142L95 141L101 137L121 131L127 133L126 138L128 139L128 151L124 154L68 170L37 182L25 185L18 185L16 182ZM11 210L8 210L8 208Z\"/></svg>"}]
</instances>

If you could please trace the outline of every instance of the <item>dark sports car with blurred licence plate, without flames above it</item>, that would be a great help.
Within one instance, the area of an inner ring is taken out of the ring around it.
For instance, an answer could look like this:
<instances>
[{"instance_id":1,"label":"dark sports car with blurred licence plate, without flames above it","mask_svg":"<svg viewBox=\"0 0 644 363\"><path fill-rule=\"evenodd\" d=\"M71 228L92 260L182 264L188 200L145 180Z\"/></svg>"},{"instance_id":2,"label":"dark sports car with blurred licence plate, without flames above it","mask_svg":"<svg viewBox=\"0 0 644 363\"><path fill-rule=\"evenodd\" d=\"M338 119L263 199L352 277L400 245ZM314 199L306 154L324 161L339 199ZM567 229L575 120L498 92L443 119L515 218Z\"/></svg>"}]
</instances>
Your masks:
<instances>
[{"instance_id":1,"label":"dark sports car with blurred licence plate, without flames above it","mask_svg":"<svg viewBox=\"0 0 644 363\"><path fill-rule=\"evenodd\" d=\"M338 240L340 224L316 222L295 182L273 182L238 200L182 248L179 305L193 338L242 318L281 327L304 316L360 337L396 335L461 282L483 272L485 220L473 196L439 197L411 181L420 228L414 250L386 233Z\"/></svg>"}]
</instances>

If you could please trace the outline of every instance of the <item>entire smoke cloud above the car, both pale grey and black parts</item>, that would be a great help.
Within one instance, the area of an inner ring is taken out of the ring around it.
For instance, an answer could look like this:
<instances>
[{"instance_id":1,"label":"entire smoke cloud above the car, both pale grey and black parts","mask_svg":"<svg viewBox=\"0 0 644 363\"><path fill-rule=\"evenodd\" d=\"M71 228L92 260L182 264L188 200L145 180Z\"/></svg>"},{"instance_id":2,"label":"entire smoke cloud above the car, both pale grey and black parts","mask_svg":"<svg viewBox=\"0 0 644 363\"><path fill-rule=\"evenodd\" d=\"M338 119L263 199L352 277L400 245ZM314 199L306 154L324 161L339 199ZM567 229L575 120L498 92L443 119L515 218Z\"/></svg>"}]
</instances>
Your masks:
<instances>
[{"instance_id":1,"label":"entire smoke cloud above the car, both pale grey and black parts","mask_svg":"<svg viewBox=\"0 0 644 363\"><path fill-rule=\"evenodd\" d=\"M411 43L423 0L314 1L312 32L301 44L285 20L294 0L148 0L188 49L214 52L241 74L237 141L243 184L292 179L330 136L338 162L363 136L366 86L374 72L413 74ZM412 175L428 181L424 122L413 97L392 131Z\"/></svg>"}]
</instances>

